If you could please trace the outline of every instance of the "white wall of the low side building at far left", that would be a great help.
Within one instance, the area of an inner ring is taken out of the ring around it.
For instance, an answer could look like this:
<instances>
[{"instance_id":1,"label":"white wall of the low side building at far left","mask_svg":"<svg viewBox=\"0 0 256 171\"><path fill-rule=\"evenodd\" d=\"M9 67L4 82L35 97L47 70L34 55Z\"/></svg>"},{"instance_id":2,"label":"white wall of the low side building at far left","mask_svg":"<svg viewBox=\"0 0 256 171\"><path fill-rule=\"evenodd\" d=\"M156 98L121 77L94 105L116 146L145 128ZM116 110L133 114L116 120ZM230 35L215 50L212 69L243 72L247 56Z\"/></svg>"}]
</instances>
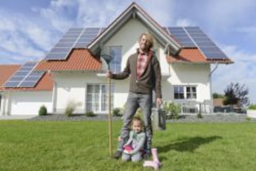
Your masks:
<instances>
[{"instance_id":1,"label":"white wall of the low side building at far left","mask_svg":"<svg viewBox=\"0 0 256 171\"><path fill-rule=\"evenodd\" d=\"M13 91L6 106L6 115L38 115L42 105L52 112L51 94L51 91Z\"/></svg>"}]
</instances>

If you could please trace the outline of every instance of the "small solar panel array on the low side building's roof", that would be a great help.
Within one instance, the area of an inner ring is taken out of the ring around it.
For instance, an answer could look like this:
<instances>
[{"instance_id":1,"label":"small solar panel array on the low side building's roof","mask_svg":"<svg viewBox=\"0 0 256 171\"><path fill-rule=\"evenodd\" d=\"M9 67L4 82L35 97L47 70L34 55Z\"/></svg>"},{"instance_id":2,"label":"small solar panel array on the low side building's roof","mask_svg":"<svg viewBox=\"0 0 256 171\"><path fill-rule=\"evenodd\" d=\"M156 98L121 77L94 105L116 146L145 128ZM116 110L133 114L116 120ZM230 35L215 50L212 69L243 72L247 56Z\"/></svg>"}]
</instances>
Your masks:
<instances>
[{"instance_id":1,"label":"small solar panel array on the low side building's roof","mask_svg":"<svg viewBox=\"0 0 256 171\"><path fill-rule=\"evenodd\" d=\"M27 62L4 84L6 88L32 88L45 72L35 72L37 62Z\"/></svg>"}]
</instances>

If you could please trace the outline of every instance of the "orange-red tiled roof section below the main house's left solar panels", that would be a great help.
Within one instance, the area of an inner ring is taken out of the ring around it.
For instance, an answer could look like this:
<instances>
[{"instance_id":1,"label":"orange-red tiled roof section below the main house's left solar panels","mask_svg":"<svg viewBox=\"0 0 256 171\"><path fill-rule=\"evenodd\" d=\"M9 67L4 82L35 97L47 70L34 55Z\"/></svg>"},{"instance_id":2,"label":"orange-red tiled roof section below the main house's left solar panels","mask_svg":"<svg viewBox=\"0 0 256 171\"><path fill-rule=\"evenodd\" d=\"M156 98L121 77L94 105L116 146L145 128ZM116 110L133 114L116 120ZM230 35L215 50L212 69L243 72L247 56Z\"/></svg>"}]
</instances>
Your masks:
<instances>
[{"instance_id":1,"label":"orange-red tiled roof section below the main house's left solar panels","mask_svg":"<svg viewBox=\"0 0 256 171\"><path fill-rule=\"evenodd\" d=\"M73 49L66 60L41 60L35 70L101 70L101 61L88 49Z\"/></svg>"}]
</instances>

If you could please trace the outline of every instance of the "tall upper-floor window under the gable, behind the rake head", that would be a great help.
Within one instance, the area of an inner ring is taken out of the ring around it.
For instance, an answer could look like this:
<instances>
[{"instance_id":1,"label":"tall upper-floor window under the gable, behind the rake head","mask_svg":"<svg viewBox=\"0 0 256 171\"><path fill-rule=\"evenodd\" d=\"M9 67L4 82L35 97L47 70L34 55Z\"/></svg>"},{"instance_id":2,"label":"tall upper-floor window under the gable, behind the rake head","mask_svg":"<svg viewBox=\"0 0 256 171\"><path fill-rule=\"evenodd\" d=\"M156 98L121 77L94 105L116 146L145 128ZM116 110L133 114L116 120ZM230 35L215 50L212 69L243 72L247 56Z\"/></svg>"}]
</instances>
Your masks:
<instances>
[{"instance_id":1,"label":"tall upper-floor window under the gable, behind the rake head","mask_svg":"<svg viewBox=\"0 0 256 171\"><path fill-rule=\"evenodd\" d=\"M113 73L118 73L121 71L122 46L110 46L109 50L112 57L110 62L110 70Z\"/></svg>"}]
</instances>

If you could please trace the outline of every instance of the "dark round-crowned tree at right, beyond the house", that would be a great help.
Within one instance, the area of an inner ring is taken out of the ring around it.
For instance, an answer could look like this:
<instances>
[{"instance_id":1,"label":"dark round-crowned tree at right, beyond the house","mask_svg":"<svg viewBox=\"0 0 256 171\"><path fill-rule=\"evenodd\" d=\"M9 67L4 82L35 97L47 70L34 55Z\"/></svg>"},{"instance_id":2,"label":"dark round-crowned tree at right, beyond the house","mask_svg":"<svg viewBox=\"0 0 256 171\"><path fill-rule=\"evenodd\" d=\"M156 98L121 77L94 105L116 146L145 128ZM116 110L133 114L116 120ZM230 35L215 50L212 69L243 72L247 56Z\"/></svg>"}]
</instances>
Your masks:
<instances>
[{"instance_id":1,"label":"dark round-crowned tree at right, beyond the house","mask_svg":"<svg viewBox=\"0 0 256 171\"><path fill-rule=\"evenodd\" d=\"M224 101L225 105L236 105L238 108L249 105L249 98L247 97L249 91L245 85L240 85L239 83L231 83L228 85L226 90L224 90Z\"/></svg>"}]
</instances>

